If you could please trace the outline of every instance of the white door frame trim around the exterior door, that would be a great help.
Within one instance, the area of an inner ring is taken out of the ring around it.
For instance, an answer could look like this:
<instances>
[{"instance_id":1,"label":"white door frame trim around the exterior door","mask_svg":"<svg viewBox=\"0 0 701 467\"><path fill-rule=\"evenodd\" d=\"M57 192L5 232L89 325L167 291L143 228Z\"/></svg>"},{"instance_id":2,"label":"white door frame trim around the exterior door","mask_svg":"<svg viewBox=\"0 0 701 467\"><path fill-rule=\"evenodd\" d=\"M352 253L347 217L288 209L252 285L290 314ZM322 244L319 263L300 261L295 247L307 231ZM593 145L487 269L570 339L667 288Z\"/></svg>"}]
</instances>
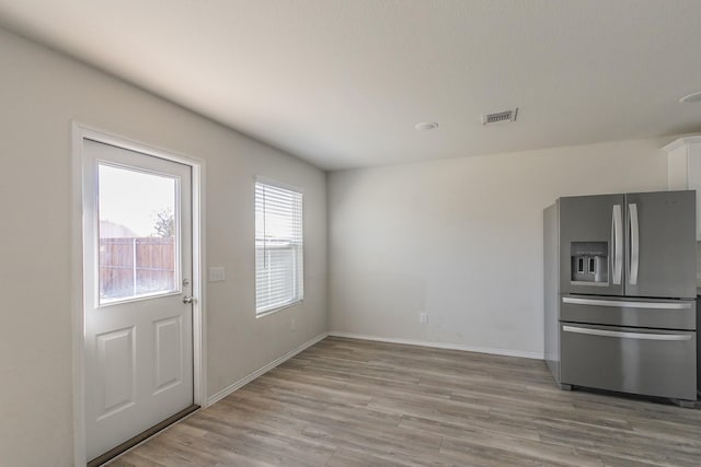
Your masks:
<instances>
[{"instance_id":1,"label":"white door frame trim around the exterior door","mask_svg":"<svg viewBox=\"0 0 701 467\"><path fill-rule=\"evenodd\" d=\"M72 194L71 194L71 311L72 311L72 385L73 385L73 462L84 466L85 390L84 390L84 290L83 290L83 140L111 144L187 165L192 170L193 217L193 404L207 406L206 390L206 319L205 319L205 161L174 151L156 148L88 125L72 126ZM135 435L138 433L134 433Z\"/></svg>"}]
</instances>

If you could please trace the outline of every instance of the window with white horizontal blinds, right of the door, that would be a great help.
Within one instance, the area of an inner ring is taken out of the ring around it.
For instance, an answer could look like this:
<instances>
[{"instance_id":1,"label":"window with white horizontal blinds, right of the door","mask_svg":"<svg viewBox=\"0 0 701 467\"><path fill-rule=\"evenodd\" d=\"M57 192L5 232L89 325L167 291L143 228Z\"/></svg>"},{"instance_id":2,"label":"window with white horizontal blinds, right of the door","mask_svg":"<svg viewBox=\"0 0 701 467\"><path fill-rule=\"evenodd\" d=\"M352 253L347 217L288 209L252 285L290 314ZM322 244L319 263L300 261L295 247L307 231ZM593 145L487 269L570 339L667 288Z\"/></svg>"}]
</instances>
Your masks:
<instances>
[{"instance_id":1,"label":"window with white horizontal blinds, right of the door","mask_svg":"<svg viewBox=\"0 0 701 467\"><path fill-rule=\"evenodd\" d=\"M302 300L302 194L256 180L256 315Z\"/></svg>"}]
</instances>

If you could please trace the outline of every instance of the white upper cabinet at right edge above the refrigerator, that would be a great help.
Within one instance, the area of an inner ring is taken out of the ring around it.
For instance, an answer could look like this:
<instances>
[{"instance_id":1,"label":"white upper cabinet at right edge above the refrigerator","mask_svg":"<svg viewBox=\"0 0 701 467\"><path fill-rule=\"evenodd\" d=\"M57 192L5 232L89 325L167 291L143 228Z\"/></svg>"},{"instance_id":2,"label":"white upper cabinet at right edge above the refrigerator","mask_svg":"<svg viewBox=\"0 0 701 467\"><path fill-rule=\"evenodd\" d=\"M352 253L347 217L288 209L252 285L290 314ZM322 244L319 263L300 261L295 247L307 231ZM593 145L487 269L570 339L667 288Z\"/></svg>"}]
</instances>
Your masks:
<instances>
[{"instance_id":1,"label":"white upper cabinet at right edge above the refrigerator","mask_svg":"<svg viewBox=\"0 0 701 467\"><path fill-rule=\"evenodd\" d=\"M701 136L683 137L663 148L667 152L670 190L697 190L697 240L701 241Z\"/></svg>"}]
</instances>

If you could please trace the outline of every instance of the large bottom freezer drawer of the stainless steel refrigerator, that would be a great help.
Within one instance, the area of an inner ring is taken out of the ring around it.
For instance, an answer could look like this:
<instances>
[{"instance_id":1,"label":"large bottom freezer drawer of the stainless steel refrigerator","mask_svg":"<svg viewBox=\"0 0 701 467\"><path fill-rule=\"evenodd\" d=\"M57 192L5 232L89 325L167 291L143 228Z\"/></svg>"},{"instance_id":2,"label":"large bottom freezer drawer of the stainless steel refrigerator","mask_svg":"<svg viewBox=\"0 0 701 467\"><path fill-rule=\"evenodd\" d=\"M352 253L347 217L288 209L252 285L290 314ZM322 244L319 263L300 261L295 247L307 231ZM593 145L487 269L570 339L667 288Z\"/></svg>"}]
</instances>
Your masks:
<instances>
[{"instance_id":1,"label":"large bottom freezer drawer of the stainless steel refrigerator","mask_svg":"<svg viewBox=\"0 0 701 467\"><path fill-rule=\"evenodd\" d=\"M562 384L696 400L696 331L560 324Z\"/></svg>"}]
</instances>

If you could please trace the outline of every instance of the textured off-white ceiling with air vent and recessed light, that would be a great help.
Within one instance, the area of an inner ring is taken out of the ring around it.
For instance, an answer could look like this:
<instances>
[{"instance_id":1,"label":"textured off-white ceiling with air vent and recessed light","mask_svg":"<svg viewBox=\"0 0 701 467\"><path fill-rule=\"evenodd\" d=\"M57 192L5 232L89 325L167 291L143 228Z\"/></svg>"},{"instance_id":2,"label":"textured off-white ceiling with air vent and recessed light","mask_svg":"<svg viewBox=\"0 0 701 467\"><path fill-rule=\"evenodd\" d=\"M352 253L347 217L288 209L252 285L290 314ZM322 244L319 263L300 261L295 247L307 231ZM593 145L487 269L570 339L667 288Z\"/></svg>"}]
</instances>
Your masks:
<instances>
[{"instance_id":1,"label":"textured off-white ceiling with air vent and recessed light","mask_svg":"<svg viewBox=\"0 0 701 467\"><path fill-rule=\"evenodd\" d=\"M701 90L700 20L698 0L0 0L8 28L326 170L699 131L678 100Z\"/></svg>"}]
</instances>

